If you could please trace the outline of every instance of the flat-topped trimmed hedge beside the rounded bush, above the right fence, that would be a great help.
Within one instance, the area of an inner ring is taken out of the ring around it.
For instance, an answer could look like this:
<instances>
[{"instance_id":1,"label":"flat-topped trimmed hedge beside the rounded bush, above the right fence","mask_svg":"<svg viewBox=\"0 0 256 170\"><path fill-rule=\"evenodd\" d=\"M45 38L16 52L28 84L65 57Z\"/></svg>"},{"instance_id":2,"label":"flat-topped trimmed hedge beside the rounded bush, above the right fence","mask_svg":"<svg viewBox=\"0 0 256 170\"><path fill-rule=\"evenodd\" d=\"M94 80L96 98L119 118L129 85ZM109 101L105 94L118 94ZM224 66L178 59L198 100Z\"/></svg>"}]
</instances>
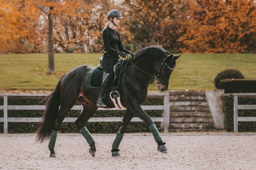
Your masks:
<instances>
[{"instance_id":1,"label":"flat-topped trimmed hedge beside the rounded bush, above the right fence","mask_svg":"<svg viewBox=\"0 0 256 170\"><path fill-rule=\"evenodd\" d=\"M224 89L224 93L254 93L256 80L224 79L220 80L220 89Z\"/></svg>"}]
</instances>

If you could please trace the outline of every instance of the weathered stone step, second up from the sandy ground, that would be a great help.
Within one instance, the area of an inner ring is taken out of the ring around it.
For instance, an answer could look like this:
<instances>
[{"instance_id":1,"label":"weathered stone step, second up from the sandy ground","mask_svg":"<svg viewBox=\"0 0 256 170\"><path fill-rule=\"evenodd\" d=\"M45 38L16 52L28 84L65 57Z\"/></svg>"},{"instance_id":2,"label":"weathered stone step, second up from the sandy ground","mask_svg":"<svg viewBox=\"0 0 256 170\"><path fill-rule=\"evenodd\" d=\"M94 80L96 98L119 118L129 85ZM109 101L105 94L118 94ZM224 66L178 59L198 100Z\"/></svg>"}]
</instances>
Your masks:
<instances>
[{"instance_id":1,"label":"weathered stone step, second up from the sandy ground","mask_svg":"<svg viewBox=\"0 0 256 170\"><path fill-rule=\"evenodd\" d=\"M169 129L214 129L212 123L170 123Z\"/></svg>"}]
</instances>

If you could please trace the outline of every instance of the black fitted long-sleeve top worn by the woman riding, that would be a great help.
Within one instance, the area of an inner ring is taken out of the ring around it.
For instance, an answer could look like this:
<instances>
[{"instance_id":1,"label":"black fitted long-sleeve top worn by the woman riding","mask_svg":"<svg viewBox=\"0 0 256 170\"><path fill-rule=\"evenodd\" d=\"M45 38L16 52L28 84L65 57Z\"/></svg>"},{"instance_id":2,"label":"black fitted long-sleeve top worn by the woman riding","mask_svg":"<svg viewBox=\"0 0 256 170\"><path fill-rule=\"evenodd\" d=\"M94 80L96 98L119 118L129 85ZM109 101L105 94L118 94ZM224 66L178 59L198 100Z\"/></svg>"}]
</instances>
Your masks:
<instances>
[{"instance_id":1,"label":"black fitted long-sleeve top worn by the woman riding","mask_svg":"<svg viewBox=\"0 0 256 170\"><path fill-rule=\"evenodd\" d=\"M118 50L128 54L128 50L124 49L120 37L120 33L116 29L107 26L102 32L102 39L104 43L104 51L117 54ZM118 47L118 50L117 50Z\"/></svg>"}]
</instances>

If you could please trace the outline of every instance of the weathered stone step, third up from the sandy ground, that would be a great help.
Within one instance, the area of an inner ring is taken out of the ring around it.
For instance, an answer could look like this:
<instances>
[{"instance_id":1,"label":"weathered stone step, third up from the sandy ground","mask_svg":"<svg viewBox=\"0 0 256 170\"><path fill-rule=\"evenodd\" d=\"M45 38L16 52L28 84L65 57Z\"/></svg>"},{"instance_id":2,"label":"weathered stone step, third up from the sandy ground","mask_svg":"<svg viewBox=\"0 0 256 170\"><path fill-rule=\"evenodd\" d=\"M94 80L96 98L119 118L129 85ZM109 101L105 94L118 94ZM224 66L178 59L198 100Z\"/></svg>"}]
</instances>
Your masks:
<instances>
[{"instance_id":1,"label":"weathered stone step, third up from the sandy ground","mask_svg":"<svg viewBox=\"0 0 256 170\"><path fill-rule=\"evenodd\" d=\"M211 117L171 117L170 123L211 123L213 119Z\"/></svg>"}]
</instances>

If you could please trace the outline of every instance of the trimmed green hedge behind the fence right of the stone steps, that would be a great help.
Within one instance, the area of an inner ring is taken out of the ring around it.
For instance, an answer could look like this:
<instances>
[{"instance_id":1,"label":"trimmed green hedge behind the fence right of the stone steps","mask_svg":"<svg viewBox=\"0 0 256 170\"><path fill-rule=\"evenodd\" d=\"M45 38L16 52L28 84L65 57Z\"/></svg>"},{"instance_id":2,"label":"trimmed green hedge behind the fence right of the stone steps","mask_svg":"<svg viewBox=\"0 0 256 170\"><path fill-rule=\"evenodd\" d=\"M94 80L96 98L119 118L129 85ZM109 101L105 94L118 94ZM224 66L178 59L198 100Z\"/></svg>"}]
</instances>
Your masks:
<instances>
[{"instance_id":1,"label":"trimmed green hedge behind the fence right of the stone steps","mask_svg":"<svg viewBox=\"0 0 256 170\"><path fill-rule=\"evenodd\" d=\"M223 98L224 125L228 132L234 131L234 97L225 94ZM238 105L256 105L256 97L238 97ZM238 110L238 116L256 117L256 110ZM256 122L238 122L239 132L256 132Z\"/></svg>"}]
</instances>

